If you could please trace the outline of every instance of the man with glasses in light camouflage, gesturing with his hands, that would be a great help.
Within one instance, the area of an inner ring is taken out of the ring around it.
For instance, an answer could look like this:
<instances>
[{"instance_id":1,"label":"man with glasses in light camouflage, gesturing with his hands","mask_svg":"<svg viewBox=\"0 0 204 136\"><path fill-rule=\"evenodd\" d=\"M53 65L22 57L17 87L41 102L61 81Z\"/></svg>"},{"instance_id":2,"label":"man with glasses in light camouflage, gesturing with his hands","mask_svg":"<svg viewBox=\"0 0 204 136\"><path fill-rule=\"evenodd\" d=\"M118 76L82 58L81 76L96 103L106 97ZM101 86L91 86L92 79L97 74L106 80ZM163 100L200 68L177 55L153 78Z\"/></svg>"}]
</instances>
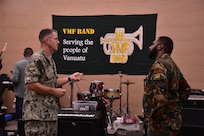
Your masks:
<instances>
[{"instance_id":1,"label":"man with glasses in light camouflage, gesturing with his hands","mask_svg":"<svg viewBox=\"0 0 204 136\"><path fill-rule=\"evenodd\" d=\"M39 40L41 51L32 55L25 69L25 135L56 136L59 98L66 93L66 89L58 87L71 80L79 81L83 74L75 72L68 77L57 78L52 54L58 50L58 33L53 29L43 29Z\"/></svg>"}]
</instances>

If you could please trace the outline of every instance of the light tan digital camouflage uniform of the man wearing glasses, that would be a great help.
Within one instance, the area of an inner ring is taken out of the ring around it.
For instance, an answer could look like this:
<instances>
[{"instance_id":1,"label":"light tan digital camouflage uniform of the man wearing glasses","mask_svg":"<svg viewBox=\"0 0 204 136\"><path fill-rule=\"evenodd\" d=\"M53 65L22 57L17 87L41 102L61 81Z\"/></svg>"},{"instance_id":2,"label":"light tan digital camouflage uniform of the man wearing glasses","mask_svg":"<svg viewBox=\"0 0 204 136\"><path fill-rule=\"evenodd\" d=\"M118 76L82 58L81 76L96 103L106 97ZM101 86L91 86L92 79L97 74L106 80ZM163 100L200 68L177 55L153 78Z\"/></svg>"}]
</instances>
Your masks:
<instances>
[{"instance_id":1,"label":"light tan digital camouflage uniform of the man wearing glasses","mask_svg":"<svg viewBox=\"0 0 204 136\"><path fill-rule=\"evenodd\" d=\"M39 51L31 57L25 69L25 83L39 82L45 86L56 87L56 65L52 58L48 58L43 51ZM25 132L27 135L56 135L57 112L59 109L58 98L52 95L37 94L26 90L24 93L23 119L25 120ZM54 125L54 126L49 126ZM29 124L33 124L32 128ZM48 130L48 128L51 128ZM32 134L31 131L35 134ZM50 134L48 134L49 132Z\"/></svg>"}]
</instances>

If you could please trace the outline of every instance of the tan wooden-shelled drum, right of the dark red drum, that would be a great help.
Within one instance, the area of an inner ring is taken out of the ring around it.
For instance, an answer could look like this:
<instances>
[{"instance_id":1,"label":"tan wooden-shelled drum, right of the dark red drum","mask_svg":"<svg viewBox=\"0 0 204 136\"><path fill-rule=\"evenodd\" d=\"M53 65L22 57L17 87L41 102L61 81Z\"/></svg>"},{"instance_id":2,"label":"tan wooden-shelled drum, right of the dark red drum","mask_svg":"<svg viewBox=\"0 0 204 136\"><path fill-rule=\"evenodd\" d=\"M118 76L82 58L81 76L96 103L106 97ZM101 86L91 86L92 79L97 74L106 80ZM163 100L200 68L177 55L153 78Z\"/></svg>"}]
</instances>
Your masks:
<instances>
[{"instance_id":1,"label":"tan wooden-shelled drum, right of the dark red drum","mask_svg":"<svg viewBox=\"0 0 204 136\"><path fill-rule=\"evenodd\" d=\"M119 92L119 90L105 89L103 91L103 95L105 98L108 98L108 99L119 99L120 92Z\"/></svg>"}]
</instances>

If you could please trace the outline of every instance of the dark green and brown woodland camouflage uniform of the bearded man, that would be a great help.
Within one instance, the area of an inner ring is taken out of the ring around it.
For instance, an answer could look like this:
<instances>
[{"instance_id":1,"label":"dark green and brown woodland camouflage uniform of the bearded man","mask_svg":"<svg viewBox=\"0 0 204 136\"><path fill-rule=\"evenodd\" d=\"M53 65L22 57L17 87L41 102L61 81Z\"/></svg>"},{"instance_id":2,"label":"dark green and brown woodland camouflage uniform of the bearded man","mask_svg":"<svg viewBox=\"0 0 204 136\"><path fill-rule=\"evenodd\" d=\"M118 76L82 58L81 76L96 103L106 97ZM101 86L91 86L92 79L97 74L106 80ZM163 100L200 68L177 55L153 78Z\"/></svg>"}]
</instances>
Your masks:
<instances>
[{"instance_id":1,"label":"dark green and brown woodland camouflage uniform of the bearded man","mask_svg":"<svg viewBox=\"0 0 204 136\"><path fill-rule=\"evenodd\" d=\"M143 109L148 136L176 136L181 106L190 95L179 68L168 54L156 60L145 79Z\"/></svg>"}]
</instances>

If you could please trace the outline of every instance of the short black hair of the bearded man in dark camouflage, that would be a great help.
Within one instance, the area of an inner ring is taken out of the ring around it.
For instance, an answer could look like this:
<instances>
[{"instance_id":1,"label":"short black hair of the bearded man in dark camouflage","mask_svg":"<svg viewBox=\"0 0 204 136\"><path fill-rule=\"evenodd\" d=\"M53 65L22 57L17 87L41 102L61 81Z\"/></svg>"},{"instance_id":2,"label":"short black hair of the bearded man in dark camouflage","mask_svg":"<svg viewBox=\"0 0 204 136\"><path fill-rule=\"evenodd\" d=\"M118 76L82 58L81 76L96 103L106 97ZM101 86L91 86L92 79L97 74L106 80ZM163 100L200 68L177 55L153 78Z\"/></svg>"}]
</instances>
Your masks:
<instances>
[{"instance_id":1,"label":"short black hair of the bearded man in dark camouflage","mask_svg":"<svg viewBox=\"0 0 204 136\"><path fill-rule=\"evenodd\" d=\"M165 53L171 54L174 48L173 40L167 36L160 36L158 40L164 45Z\"/></svg>"}]
</instances>

